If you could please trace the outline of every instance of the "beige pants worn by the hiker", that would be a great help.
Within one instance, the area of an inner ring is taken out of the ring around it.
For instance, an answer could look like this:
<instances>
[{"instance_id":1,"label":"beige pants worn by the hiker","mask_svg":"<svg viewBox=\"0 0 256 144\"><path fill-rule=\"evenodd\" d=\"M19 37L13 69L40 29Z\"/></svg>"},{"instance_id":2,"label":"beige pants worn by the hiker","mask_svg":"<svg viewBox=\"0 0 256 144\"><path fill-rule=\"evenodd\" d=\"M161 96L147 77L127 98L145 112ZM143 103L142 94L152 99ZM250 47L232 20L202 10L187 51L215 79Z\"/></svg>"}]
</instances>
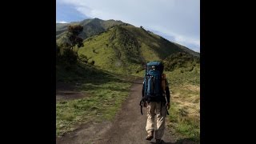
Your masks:
<instances>
[{"instance_id":1,"label":"beige pants worn by the hiker","mask_svg":"<svg viewBox=\"0 0 256 144\"><path fill-rule=\"evenodd\" d=\"M157 116L157 126L155 130L155 139L161 139L165 130L166 106L162 106L161 102L150 102L147 106L146 132L154 132L154 115Z\"/></svg>"}]
</instances>

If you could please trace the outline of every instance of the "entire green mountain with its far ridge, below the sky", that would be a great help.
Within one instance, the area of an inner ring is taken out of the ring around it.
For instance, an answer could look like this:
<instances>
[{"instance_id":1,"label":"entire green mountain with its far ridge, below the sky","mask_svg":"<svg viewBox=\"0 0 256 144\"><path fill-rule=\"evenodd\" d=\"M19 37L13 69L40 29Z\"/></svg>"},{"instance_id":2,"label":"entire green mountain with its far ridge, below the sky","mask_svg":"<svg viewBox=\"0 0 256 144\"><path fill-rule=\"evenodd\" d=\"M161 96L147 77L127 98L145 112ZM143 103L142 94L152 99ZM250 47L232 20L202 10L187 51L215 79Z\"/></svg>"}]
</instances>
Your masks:
<instances>
[{"instance_id":1,"label":"entire green mountain with its far ridge, below the sky","mask_svg":"<svg viewBox=\"0 0 256 144\"><path fill-rule=\"evenodd\" d=\"M168 61L172 54L200 54L186 46L170 42L166 38L122 21L103 21L98 18L82 22L56 24L57 42L65 41L69 25L81 25L84 46L78 50L79 55L86 56L88 62L94 62L104 70L120 73L138 73L149 61ZM169 59L168 59L169 58Z\"/></svg>"}]
</instances>

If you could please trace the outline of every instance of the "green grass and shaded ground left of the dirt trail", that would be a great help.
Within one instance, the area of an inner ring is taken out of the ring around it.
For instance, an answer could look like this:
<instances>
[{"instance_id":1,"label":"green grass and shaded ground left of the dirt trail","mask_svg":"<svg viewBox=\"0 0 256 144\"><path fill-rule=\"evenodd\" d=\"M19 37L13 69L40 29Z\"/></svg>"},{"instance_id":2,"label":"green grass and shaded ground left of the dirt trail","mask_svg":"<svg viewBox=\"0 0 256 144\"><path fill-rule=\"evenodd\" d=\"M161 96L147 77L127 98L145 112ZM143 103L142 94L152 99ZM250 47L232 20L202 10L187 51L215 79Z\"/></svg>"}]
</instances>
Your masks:
<instances>
[{"instance_id":1,"label":"green grass and shaded ground left of the dirt trail","mask_svg":"<svg viewBox=\"0 0 256 144\"><path fill-rule=\"evenodd\" d=\"M130 92L135 77L111 74L90 66L59 71L59 82L80 82L76 90L86 93L86 98L62 100L56 103L57 136L75 130L86 122L113 120L122 102ZM76 75L76 76L75 76ZM64 76L64 77L63 77Z\"/></svg>"}]
</instances>

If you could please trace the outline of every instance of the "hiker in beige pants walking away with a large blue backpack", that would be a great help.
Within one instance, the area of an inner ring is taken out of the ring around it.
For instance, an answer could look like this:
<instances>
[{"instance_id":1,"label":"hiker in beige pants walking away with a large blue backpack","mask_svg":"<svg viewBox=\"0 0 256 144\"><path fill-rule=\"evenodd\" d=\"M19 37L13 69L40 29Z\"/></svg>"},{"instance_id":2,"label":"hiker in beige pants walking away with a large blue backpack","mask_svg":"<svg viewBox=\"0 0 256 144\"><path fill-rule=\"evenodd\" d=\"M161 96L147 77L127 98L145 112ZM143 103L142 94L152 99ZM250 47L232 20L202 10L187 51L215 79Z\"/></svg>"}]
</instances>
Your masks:
<instances>
[{"instance_id":1,"label":"hiker in beige pants walking away with a large blue backpack","mask_svg":"<svg viewBox=\"0 0 256 144\"><path fill-rule=\"evenodd\" d=\"M148 62L145 69L141 106L146 107L147 111L146 140L151 141L155 134L156 143L161 143L166 114L170 109L169 83L166 75L162 74L163 65L161 62ZM155 115L157 117L156 130L154 130Z\"/></svg>"}]
</instances>

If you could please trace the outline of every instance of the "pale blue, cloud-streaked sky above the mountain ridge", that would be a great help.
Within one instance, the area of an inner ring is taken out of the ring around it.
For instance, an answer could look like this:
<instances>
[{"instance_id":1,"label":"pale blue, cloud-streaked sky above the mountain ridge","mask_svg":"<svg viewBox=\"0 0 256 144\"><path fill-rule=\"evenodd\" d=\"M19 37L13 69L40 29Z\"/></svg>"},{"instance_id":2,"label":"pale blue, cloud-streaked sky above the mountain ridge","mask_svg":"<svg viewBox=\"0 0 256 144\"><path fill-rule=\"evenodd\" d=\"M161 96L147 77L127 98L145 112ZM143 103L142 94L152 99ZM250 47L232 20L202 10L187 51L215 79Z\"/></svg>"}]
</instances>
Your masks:
<instances>
[{"instance_id":1,"label":"pale blue, cloud-streaked sky above the mountain ridge","mask_svg":"<svg viewBox=\"0 0 256 144\"><path fill-rule=\"evenodd\" d=\"M56 0L56 22L120 20L200 52L200 0Z\"/></svg>"}]
</instances>

